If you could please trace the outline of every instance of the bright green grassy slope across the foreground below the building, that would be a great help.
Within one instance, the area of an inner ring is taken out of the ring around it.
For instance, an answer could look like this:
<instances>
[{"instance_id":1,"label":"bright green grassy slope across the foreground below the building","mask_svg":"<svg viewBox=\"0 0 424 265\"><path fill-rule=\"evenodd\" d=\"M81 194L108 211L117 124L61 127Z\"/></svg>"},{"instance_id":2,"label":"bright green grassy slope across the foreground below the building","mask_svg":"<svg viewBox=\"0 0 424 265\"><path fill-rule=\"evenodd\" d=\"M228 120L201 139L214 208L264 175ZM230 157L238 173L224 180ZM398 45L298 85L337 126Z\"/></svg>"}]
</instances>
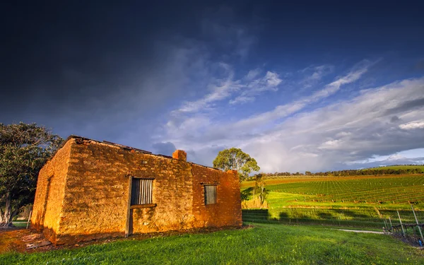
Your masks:
<instances>
[{"instance_id":1,"label":"bright green grassy slope across the foreground below the building","mask_svg":"<svg viewBox=\"0 0 424 265\"><path fill-rule=\"evenodd\" d=\"M0 264L424 264L423 250L388 235L257 225L245 230L123 240L0 255Z\"/></svg>"}]
</instances>

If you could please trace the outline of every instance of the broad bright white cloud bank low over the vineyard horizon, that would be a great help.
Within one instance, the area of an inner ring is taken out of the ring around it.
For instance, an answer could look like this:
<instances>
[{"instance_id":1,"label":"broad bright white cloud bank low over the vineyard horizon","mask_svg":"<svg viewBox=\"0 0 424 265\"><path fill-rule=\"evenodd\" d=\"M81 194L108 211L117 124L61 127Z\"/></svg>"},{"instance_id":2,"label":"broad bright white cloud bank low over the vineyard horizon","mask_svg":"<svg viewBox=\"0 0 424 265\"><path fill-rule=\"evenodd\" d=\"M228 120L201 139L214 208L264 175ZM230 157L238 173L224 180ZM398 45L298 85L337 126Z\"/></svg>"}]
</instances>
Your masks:
<instances>
[{"instance_id":1,"label":"broad bright white cloud bank low over the vineyard horizon","mask_svg":"<svg viewBox=\"0 0 424 265\"><path fill-rule=\"evenodd\" d=\"M267 172L320 171L378 161L382 164L382 161L406 163L412 161L411 158L404 159L406 156L401 153L391 154L423 148L424 135L418 131L404 134L404 130L390 122L391 114L387 111L392 106L422 97L423 88L424 78L421 78L366 90L351 100L290 117L276 129L240 144L248 153L257 155L255 158L259 165L264 165L262 169ZM393 104L387 105L387 102ZM415 121L412 123L414 126L418 126L416 121L424 117L423 109L404 109L396 114L403 120ZM269 163L268 154L257 152L257 148L262 150L263 145L277 148L273 155L280 158L280 163ZM421 156L424 156L424 151L421 151Z\"/></svg>"}]
</instances>

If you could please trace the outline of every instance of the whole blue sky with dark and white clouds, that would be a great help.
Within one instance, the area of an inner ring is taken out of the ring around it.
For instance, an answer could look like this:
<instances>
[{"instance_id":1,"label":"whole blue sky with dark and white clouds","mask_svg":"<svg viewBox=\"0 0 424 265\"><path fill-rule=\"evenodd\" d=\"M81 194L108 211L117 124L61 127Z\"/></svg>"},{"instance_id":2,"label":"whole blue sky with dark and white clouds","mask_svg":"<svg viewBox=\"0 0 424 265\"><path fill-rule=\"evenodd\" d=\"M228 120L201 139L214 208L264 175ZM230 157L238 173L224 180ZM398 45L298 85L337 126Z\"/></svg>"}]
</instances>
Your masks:
<instances>
[{"instance_id":1,"label":"whole blue sky with dark and white clouds","mask_svg":"<svg viewBox=\"0 0 424 265\"><path fill-rule=\"evenodd\" d=\"M2 2L0 122L261 172L424 164L423 8Z\"/></svg>"}]
</instances>

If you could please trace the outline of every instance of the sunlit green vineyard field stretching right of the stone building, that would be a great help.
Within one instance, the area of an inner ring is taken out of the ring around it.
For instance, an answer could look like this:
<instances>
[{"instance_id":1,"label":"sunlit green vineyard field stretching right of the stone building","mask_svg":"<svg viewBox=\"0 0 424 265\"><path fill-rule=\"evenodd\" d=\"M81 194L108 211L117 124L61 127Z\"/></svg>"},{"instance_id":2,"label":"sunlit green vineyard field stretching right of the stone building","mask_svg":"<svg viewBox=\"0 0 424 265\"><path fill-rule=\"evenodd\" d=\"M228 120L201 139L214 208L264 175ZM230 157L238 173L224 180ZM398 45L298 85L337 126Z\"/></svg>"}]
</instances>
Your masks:
<instances>
[{"instance_id":1,"label":"sunlit green vineyard field stretching right of the stone building","mask_svg":"<svg viewBox=\"0 0 424 265\"><path fill-rule=\"evenodd\" d=\"M254 183L254 182L253 182ZM424 175L266 179L268 209L244 210L246 222L316 223L382 228L424 222ZM250 183L243 183L248 190ZM243 189L243 188L242 188Z\"/></svg>"}]
</instances>

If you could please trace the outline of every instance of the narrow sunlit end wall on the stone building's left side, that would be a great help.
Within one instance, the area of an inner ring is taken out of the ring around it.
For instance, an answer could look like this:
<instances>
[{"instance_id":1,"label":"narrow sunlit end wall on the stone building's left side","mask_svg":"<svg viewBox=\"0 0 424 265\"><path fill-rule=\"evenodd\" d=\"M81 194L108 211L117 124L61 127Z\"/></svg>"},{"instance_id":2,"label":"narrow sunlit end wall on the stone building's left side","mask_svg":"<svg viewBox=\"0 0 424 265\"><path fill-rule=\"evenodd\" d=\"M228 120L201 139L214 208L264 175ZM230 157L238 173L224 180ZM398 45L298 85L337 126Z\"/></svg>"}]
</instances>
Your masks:
<instances>
[{"instance_id":1,"label":"narrow sunlit end wall on the stone building's left side","mask_svg":"<svg viewBox=\"0 0 424 265\"><path fill-rule=\"evenodd\" d=\"M70 151L71 143L67 142L54 158L47 161L38 175L31 225L39 230L44 229L52 241L59 230Z\"/></svg>"}]
</instances>

